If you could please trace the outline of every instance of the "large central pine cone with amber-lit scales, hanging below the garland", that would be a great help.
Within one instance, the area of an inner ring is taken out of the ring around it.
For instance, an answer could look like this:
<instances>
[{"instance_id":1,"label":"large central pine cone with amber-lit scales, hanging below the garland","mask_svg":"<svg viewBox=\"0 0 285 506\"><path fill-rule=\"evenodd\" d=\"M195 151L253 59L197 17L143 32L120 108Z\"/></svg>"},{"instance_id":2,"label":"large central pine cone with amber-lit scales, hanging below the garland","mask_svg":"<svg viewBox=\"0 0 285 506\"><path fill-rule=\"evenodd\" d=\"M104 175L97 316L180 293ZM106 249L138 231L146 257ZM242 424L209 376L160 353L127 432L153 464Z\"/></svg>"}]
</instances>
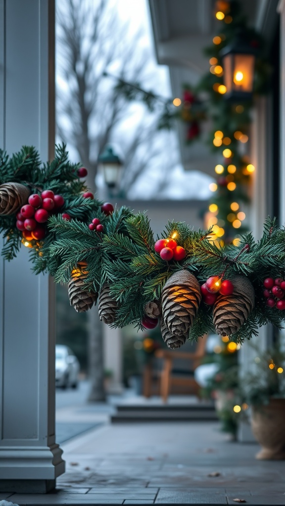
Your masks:
<instances>
[{"instance_id":1,"label":"large central pine cone with amber-lit scales, hanging below the garland","mask_svg":"<svg viewBox=\"0 0 285 506\"><path fill-rule=\"evenodd\" d=\"M162 290L162 314L172 334L189 332L200 302L200 285L193 274L182 270L170 276Z\"/></svg>"}]
</instances>

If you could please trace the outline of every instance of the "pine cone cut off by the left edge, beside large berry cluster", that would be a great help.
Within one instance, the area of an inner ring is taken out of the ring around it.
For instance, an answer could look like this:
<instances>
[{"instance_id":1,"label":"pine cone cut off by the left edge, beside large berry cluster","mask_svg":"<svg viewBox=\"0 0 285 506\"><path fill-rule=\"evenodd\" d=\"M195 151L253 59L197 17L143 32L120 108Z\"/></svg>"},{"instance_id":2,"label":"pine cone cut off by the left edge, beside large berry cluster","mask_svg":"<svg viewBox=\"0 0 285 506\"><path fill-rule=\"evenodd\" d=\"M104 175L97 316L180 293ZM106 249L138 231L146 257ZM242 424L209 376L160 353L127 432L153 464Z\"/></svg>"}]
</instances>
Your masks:
<instances>
[{"instance_id":1,"label":"pine cone cut off by the left edge, beside large berry cluster","mask_svg":"<svg viewBox=\"0 0 285 506\"><path fill-rule=\"evenodd\" d=\"M27 203L29 195L29 189L20 183L0 185L0 215L16 214Z\"/></svg>"}]
</instances>

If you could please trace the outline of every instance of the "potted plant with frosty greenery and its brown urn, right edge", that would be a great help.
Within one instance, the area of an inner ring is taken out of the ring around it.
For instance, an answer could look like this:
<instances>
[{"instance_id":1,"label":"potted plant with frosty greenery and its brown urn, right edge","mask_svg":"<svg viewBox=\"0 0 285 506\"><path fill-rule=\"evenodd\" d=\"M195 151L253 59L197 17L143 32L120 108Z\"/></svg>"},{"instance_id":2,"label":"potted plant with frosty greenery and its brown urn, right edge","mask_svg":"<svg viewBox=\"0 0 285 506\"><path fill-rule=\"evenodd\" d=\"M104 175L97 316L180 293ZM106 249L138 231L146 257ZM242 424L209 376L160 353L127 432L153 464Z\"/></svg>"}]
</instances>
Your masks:
<instances>
[{"instance_id":1,"label":"potted plant with frosty greenery and its brown urn, right edge","mask_svg":"<svg viewBox=\"0 0 285 506\"><path fill-rule=\"evenodd\" d=\"M275 346L258 352L253 371L242 379L244 401L251 406L252 431L262 446L258 459L285 459L285 352Z\"/></svg>"}]
</instances>

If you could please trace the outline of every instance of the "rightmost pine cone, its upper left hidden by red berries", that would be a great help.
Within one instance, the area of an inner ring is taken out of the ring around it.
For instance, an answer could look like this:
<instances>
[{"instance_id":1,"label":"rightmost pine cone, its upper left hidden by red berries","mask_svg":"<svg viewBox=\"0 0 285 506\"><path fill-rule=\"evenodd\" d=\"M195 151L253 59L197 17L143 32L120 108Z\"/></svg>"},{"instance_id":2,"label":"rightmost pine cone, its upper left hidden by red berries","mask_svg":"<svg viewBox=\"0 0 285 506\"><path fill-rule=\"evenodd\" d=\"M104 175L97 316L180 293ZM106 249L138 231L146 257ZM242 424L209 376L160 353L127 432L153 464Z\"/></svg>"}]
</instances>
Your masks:
<instances>
[{"instance_id":1,"label":"rightmost pine cone, its upper left hidden by red berries","mask_svg":"<svg viewBox=\"0 0 285 506\"><path fill-rule=\"evenodd\" d=\"M213 306L213 322L220 335L236 332L254 308L255 291L250 280L246 276L236 276L231 281L233 293L219 294Z\"/></svg>"}]
</instances>

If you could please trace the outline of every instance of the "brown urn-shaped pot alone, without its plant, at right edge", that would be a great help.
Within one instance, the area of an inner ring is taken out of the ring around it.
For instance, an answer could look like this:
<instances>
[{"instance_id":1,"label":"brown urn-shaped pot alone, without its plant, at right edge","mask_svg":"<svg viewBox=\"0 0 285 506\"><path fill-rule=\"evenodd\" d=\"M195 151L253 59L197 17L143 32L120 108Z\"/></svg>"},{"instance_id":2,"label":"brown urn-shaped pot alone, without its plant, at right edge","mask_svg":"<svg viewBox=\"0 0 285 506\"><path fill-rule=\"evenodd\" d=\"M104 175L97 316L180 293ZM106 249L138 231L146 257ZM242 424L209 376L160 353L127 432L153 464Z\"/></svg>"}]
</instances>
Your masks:
<instances>
[{"instance_id":1,"label":"brown urn-shaped pot alone, without its plant, at right edge","mask_svg":"<svg viewBox=\"0 0 285 506\"><path fill-rule=\"evenodd\" d=\"M256 458L285 460L285 399L252 408L252 431L262 449Z\"/></svg>"}]
</instances>

